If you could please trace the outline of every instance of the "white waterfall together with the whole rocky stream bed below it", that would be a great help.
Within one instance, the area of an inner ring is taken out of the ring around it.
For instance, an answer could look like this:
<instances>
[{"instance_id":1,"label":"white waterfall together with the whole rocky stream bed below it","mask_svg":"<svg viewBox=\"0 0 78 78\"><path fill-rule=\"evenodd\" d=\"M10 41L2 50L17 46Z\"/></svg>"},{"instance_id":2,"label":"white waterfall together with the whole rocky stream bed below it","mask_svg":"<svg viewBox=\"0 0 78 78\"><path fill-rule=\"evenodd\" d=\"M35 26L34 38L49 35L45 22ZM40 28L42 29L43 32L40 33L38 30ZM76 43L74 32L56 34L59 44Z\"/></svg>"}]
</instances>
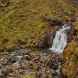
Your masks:
<instances>
[{"instance_id":1,"label":"white waterfall together with the whole rocky stream bed below it","mask_svg":"<svg viewBox=\"0 0 78 78\"><path fill-rule=\"evenodd\" d=\"M0 52L0 78L63 78L63 51L67 46L67 31L63 25L49 50L11 48ZM62 53L62 54L61 54ZM26 76L26 77L25 77Z\"/></svg>"}]
</instances>

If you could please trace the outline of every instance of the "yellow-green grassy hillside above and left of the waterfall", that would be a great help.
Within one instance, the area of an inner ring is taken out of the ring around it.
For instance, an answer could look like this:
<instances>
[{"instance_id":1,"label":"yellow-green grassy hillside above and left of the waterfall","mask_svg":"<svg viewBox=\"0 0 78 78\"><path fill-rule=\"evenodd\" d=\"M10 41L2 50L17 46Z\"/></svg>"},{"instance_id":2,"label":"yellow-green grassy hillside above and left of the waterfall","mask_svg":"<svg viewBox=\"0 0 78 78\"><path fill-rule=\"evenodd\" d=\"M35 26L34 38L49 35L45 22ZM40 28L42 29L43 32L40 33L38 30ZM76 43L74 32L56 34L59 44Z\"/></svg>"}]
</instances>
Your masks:
<instances>
[{"instance_id":1,"label":"yellow-green grassy hillside above and left of the waterfall","mask_svg":"<svg viewBox=\"0 0 78 78\"><path fill-rule=\"evenodd\" d=\"M63 0L4 0L6 6L1 3L1 47L14 46L21 40L25 46L34 46L47 29L43 16L64 20L76 10Z\"/></svg>"}]
</instances>

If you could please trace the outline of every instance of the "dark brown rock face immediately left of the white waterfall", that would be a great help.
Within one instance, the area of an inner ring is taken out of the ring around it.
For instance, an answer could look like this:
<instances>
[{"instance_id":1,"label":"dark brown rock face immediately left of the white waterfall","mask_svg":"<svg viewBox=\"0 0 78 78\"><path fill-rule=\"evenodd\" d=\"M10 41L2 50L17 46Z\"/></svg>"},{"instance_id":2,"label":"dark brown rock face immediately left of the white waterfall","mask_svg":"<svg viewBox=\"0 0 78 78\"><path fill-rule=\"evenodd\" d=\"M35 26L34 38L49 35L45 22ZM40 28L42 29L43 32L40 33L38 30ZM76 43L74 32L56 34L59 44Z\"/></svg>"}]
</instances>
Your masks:
<instances>
[{"instance_id":1,"label":"dark brown rock face immediately left of the white waterfall","mask_svg":"<svg viewBox=\"0 0 78 78\"><path fill-rule=\"evenodd\" d=\"M38 48L47 49L52 45L52 40L55 36L54 32L47 32L42 40L38 42Z\"/></svg>"}]
</instances>

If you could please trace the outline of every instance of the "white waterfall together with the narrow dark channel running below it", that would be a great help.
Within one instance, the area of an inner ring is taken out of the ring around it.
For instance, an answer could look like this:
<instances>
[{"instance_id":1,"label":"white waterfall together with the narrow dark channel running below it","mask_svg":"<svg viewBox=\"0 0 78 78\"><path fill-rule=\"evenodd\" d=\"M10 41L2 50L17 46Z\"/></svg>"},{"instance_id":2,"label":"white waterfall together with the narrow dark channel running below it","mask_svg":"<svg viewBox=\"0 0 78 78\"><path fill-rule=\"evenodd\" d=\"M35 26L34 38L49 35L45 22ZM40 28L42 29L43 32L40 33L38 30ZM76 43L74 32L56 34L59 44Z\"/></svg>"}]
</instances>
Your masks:
<instances>
[{"instance_id":1,"label":"white waterfall together with the narrow dark channel running below it","mask_svg":"<svg viewBox=\"0 0 78 78\"><path fill-rule=\"evenodd\" d=\"M67 33L70 29L71 26L69 26L68 24L64 24L59 30L57 30L56 35L53 39L52 47L49 48L49 50L51 50L55 55L58 55L54 57L54 63L52 62L53 78L63 78L61 73L62 62L59 59L57 59L57 57L59 57L60 53L63 53L64 48L67 46ZM63 60L63 58L61 58L61 60ZM56 69L54 67L56 67Z\"/></svg>"}]
</instances>

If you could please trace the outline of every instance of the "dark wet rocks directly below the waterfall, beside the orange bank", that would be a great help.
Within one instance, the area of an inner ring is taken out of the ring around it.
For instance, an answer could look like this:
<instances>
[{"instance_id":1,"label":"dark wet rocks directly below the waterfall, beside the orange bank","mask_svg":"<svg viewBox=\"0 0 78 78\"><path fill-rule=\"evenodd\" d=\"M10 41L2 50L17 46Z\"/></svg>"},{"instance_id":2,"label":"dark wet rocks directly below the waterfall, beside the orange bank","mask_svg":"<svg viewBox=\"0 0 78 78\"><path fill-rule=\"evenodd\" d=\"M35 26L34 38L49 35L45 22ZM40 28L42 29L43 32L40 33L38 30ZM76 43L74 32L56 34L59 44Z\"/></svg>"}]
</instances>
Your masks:
<instances>
[{"instance_id":1,"label":"dark wet rocks directly below the waterfall, beside the orange bank","mask_svg":"<svg viewBox=\"0 0 78 78\"><path fill-rule=\"evenodd\" d=\"M52 71L53 78L62 78L61 65L62 65L62 58L57 54L53 54L52 58L48 62L48 66Z\"/></svg>"}]
</instances>

